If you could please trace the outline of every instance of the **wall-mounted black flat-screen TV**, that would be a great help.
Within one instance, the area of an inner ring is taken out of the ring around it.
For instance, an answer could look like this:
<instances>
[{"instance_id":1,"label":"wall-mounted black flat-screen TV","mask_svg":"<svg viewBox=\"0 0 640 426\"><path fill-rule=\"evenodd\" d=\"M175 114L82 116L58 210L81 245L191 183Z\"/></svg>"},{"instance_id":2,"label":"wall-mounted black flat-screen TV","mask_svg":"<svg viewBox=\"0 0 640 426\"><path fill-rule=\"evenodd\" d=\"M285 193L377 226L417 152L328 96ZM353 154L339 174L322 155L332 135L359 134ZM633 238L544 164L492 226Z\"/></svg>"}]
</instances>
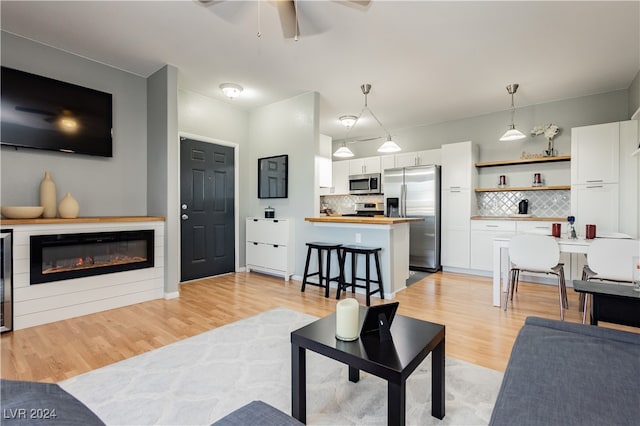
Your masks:
<instances>
[{"instance_id":1,"label":"wall-mounted black flat-screen TV","mask_svg":"<svg viewBox=\"0 0 640 426\"><path fill-rule=\"evenodd\" d=\"M2 67L2 145L112 157L112 96Z\"/></svg>"}]
</instances>

